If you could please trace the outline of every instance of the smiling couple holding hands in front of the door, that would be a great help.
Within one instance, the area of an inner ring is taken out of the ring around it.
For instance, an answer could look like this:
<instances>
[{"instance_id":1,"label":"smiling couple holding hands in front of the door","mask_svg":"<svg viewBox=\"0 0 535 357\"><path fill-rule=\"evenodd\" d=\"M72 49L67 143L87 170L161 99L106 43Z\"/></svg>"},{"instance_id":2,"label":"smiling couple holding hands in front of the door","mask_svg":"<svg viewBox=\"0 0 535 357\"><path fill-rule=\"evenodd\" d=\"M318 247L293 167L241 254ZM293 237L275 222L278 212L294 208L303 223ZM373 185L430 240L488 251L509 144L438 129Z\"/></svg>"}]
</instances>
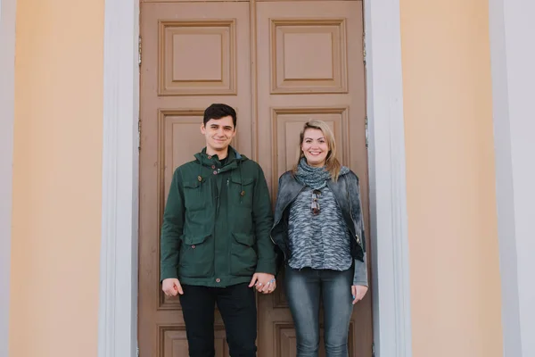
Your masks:
<instances>
[{"instance_id":1,"label":"smiling couple holding hands in front of the door","mask_svg":"<svg viewBox=\"0 0 535 357\"><path fill-rule=\"evenodd\" d=\"M351 311L367 291L358 178L336 160L325 122L309 121L274 217L259 164L230 146L235 129L233 108L206 109L206 147L175 170L163 216L161 286L180 298L189 355L214 356L217 303L230 355L256 356L254 289L273 293L283 261L297 355L317 356L323 299L326 355L347 356Z\"/></svg>"}]
</instances>

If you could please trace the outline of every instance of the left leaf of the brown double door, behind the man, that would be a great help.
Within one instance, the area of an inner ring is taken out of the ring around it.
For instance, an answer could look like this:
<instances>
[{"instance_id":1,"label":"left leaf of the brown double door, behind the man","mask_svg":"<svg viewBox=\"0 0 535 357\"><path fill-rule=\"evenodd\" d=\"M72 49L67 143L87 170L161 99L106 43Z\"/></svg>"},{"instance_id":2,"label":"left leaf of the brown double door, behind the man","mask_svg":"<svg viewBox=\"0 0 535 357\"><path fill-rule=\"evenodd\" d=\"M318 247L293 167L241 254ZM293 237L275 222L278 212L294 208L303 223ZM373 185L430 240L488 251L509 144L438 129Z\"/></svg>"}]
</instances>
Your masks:
<instances>
[{"instance_id":1,"label":"left leaf of the brown double door, behind the man","mask_svg":"<svg viewBox=\"0 0 535 357\"><path fill-rule=\"evenodd\" d=\"M166 297L159 282L163 208L173 171L204 146L202 114L210 104L236 109L233 145L251 153L249 4L141 6L140 353L177 357L187 355L187 341L178 298ZM215 314L216 355L228 356Z\"/></svg>"}]
</instances>

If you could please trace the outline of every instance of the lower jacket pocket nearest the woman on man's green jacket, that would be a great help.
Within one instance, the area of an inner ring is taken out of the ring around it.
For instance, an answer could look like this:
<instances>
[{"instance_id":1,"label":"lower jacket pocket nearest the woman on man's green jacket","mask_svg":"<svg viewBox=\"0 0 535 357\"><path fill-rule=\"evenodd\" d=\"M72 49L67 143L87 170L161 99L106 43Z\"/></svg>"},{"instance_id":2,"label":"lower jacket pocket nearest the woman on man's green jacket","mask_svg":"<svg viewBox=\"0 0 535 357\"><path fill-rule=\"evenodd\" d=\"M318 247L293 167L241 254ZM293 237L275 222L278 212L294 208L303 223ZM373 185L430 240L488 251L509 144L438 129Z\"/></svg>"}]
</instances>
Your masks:
<instances>
[{"instance_id":1,"label":"lower jacket pocket nearest the woman on man's green jacket","mask_svg":"<svg viewBox=\"0 0 535 357\"><path fill-rule=\"evenodd\" d=\"M235 276L250 277L257 265L254 237L245 233L233 233L234 240L230 253L230 272Z\"/></svg>"}]
</instances>

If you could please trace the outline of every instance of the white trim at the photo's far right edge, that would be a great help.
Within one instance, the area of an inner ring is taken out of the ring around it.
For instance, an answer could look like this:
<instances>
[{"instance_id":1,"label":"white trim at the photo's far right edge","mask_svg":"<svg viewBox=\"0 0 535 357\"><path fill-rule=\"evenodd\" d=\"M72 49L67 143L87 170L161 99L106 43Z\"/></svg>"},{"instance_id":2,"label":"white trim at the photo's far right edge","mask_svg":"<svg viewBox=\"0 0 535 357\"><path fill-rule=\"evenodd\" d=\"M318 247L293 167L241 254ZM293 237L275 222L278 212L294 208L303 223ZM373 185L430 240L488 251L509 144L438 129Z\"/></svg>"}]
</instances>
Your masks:
<instances>
[{"instance_id":1,"label":"white trim at the photo's far right edge","mask_svg":"<svg viewBox=\"0 0 535 357\"><path fill-rule=\"evenodd\" d=\"M504 356L535 355L535 4L490 0L490 61Z\"/></svg>"}]
</instances>

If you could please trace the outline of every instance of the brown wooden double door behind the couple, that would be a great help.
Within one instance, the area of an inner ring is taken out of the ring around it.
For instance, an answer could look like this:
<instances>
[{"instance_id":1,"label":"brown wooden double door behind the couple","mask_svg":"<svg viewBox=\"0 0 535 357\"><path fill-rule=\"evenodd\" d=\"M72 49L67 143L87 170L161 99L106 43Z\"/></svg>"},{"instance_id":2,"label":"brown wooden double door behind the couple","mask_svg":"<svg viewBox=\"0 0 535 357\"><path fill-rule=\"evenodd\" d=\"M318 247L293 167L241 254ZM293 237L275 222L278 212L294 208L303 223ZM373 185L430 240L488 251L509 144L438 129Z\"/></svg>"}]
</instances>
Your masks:
<instances>
[{"instance_id":1,"label":"brown wooden double door behind the couple","mask_svg":"<svg viewBox=\"0 0 535 357\"><path fill-rule=\"evenodd\" d=\"M278 177L296 160L303 123L328 122L339 159L361 179L367 228L362 2L146 1L141 37L140 355L187 356L180 303L161 293L159 237L173 171L204 146L208 105L236 109L233 145L259 162L274 202ZM354 309L350 356L372 355L371 293ZM216 354L228 356L215 315ZM258 318L259 356L293 356L282 282L274 294L258 296Z\"/></svg>"}]
</instances>

